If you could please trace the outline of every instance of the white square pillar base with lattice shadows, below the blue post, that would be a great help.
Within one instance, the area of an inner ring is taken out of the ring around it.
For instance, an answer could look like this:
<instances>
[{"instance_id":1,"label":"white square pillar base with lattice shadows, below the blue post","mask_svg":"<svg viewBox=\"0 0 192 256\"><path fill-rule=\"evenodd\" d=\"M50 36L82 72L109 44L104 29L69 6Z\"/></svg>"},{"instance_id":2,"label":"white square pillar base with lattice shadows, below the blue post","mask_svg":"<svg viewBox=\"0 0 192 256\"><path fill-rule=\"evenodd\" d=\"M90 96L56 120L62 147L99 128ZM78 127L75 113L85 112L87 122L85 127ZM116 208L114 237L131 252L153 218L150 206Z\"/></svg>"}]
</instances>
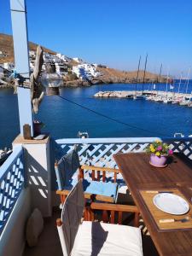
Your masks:
<instances>
[{"instance_id":1,"label":"white square pillar base with lattice shadows, below the blue post","mask_svg":"<svg viewBox=\"0 0 192 256\"><path fill-rule=\"evenodd\" d=\"M52 214L49 139L43 142L32 141L31 144L23 144L23 148L26 148L25 167L31 189L32 207L37 207L44 217L49 217Z\"/></svg>"}]
</instances>

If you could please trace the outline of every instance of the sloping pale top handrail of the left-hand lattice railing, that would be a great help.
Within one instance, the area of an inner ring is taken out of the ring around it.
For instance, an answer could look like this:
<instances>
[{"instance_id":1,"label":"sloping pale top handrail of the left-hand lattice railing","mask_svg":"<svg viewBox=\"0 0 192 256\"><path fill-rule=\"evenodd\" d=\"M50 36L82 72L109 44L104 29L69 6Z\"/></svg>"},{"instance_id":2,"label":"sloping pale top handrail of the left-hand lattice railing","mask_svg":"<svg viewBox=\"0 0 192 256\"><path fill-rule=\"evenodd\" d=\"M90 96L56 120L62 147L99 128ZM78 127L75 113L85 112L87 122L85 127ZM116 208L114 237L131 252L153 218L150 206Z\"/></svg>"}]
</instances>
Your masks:
<instances>
[{"instance_id":1,"label":"sloping pale top handrail of the left-hand lattice railing","mask_svg":"<svg viewBox=\"0 0 192 256\"><path fill-rule=\"evenodd\" d=\"M10 168L15 164L15 160L17 160L22 154L23 150L21 146L15 147L12 154L9 155L8 159L5 160L3 165L0 167L0 182L3 177L9 172Z\"/></svg>"}]
</instances>

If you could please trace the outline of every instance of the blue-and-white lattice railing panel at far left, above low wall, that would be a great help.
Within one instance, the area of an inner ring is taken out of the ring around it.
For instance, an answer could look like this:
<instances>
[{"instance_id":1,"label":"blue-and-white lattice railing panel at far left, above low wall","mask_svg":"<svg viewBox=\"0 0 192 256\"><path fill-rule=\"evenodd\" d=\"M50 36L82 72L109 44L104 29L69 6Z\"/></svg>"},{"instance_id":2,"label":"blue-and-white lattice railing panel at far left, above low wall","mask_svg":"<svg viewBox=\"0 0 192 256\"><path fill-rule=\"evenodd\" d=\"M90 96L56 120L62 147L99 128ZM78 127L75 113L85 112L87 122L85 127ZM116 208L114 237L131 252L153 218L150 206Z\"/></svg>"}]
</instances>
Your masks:
<instances>
[{"instance_id":1,"label":"blue-and-white lattice railing panel at far left, above low wall","mask_svg":"<svg viewBox=\"0 0 192 256\"><path fill-rule=\"evenodd\" d=\"M17 147L0 167L0 235L23 187L23 149Z\"/></svg>"}]
</instances>

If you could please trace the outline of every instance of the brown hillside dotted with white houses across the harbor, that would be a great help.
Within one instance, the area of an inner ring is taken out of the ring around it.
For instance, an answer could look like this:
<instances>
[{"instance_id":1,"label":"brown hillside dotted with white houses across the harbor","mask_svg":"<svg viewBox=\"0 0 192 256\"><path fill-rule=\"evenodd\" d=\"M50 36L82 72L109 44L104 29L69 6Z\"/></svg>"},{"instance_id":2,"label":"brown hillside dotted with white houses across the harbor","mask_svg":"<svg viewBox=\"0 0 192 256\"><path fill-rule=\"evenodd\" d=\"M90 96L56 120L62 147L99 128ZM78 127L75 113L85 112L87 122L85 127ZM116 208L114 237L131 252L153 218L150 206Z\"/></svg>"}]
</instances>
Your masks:
<instances>
[{"instance_id":1,"label":"brown hillside dotted with white houses across the harbor","mask_svg":"<svg viewBox=\"0 0 192 256\"><path fill-rule=\"evenodd\" d=\"M31 72L34 69L36 59L36 48L38 44L29 43L29 57ZM136 83L137 72L119 71L101 64L88 63L79 57L68 57L44 48L43 72L49 64L55 73L61 76L63 86L90 86L91 84L113 84L113 83ZM15 69L13 38L9 35L0 34L0 84L9 85L10 73ZM145 82L155 81L157 75L146 72ZM161 82L164 78L161 78ZM138 82L143 82L143 71L141 70Z\"/></svg>"}]
</instances>

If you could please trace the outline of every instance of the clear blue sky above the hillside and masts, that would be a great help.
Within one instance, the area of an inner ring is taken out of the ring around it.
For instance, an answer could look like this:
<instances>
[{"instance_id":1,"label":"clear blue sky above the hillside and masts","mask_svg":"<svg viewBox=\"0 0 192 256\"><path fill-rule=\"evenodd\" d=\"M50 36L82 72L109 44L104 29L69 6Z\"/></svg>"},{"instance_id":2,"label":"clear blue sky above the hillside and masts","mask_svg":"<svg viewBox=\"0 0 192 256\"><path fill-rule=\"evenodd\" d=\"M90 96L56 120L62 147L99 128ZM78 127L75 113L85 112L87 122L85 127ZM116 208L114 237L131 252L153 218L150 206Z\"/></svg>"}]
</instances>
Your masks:
<instances>
[{"instance_id":1,"label":"clear blue sky above the hillside and masts","mask_svg":"<svg viewBox=\"0 0 192 256\"><path fill-rule=\"evenodd\" d=\"M136 70L187 73L192 66L191 0L26 0L29 40L69 56ZM38 8L37 8L38 7ZM11 33L9 0L0 32Z\"/></svg>"}]
</instances>

